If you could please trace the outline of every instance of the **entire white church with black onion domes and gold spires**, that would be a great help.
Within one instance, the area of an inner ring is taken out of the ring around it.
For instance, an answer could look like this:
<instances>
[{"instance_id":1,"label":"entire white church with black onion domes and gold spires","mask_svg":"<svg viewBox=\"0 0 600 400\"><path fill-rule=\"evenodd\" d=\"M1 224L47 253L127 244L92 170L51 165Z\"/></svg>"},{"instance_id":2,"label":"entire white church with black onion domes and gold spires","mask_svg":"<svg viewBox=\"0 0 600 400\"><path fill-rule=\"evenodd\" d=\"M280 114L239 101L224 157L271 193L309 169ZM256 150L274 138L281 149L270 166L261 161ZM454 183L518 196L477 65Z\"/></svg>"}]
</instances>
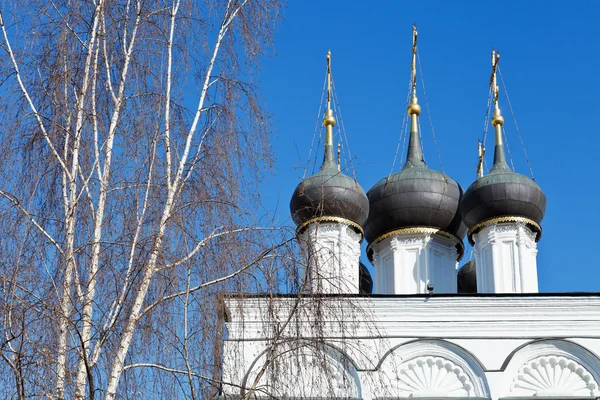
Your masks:
<instances>
[{"instance_id":1,"label":"entire white church with black onion domes and gold spires","mask_svg":"<svg viewBox=\"0 0 600 400\"><path fill-rule=\"evenodd\" d=\"M416 54L415 29L406 161L366 193L336 160L327 56L323 163L290 202L305 279L224 297L222 398L600 398L600 296L538 292L546 196L506 162L499 55L493 167L463 192L424 161Z\"/></svg>"}]
</instances>

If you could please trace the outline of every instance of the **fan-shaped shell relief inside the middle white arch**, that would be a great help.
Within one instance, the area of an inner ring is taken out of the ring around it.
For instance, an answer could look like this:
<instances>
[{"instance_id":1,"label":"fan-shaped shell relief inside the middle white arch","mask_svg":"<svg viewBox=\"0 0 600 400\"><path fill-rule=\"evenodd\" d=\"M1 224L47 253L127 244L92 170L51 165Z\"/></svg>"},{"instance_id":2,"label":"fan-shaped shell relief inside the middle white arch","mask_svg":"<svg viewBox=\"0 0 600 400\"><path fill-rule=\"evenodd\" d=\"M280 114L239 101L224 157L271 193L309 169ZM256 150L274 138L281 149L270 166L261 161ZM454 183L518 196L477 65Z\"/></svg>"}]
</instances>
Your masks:
<instances>
[{"instance_id":1,"label":"fan-shaped shell relief inside the middle white arch","mask_svg":"<svg viewBox=\"0 0 600 400\"><path fill-rule=\"evenodd\" d=\"M465 371L442 357L422 356L398 366L392 390L401 397L469 397L473 383Z\"/></svg>"}]
</instances>

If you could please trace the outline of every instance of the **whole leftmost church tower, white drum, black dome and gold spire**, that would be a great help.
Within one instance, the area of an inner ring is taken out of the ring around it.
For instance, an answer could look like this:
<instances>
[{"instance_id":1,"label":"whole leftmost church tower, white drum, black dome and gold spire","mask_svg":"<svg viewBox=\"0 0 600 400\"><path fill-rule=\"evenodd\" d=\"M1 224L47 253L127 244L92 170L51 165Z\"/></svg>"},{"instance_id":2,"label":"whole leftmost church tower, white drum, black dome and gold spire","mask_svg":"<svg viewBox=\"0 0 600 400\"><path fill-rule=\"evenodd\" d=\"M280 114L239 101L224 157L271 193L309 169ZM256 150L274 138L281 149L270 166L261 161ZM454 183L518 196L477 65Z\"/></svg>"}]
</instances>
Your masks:
<instances>
[{"instance_id":1,"label":"whole leftmost church tower, white drum, black dome and gold spire","mask_svg":"<svg viewBox=\"0 0 600 400\"><path fill-rule=\"evenodd\" d=\"M336 120L331 109L331 53L327 54L327 80L323 164L319 172L296 187L290 211L298 225L298 240L308 255L305 290L357 294L360 290L360 243L363 224L369 214L369 201L358 182L340 172L334 159L333 127Z\"/></svg>"}]
</instances>

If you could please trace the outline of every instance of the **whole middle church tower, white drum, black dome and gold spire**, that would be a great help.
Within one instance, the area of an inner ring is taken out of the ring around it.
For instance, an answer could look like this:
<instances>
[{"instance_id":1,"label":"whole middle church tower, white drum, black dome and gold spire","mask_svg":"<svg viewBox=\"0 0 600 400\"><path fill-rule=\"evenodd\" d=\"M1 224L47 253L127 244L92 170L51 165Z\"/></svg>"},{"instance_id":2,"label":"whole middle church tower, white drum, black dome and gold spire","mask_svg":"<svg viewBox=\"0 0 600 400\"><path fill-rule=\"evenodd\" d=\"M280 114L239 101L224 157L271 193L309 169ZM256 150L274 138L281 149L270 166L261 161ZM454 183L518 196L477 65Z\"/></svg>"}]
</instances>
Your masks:
<instances>
[{"instance_id":1,"label":"whole middle church tower, white drum, black dome and gold spire","mask_svg":"<svg viewBox=\"0 0 600 400\"><path fill-rule=\"evenodd\" d=\"M416 96L417 30L413 28L412 99L404 167L369 190L367 255L375 266L375 293L456 293L456 262L466 227L458 213L460 185L425 164Z\"/></svg>"}]
</instances>

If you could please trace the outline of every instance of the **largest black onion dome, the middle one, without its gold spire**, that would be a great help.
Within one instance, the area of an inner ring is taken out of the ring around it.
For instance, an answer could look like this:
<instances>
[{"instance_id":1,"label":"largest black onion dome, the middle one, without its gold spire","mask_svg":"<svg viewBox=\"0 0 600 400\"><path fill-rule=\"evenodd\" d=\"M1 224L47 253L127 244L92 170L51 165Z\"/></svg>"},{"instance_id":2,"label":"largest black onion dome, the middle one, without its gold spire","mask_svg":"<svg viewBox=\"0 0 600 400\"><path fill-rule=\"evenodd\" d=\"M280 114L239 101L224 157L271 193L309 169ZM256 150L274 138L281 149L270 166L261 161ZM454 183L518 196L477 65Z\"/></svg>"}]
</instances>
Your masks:
<instances>
[{"instance_id":1,"label":"largest black onion dome, the middle one, without its gold spire","mask_svg":"<svg viewBox=\"0 0 600 400\"><path fill-rule=\"evenodd\" d=\"M387 232L408 227L432 227L464 237L458 206L462 188L447 175L425 164L418 131L410 135L408 156L400 172L377 182L367 193L369 243Z\"/></svg>"}]
</instances>

